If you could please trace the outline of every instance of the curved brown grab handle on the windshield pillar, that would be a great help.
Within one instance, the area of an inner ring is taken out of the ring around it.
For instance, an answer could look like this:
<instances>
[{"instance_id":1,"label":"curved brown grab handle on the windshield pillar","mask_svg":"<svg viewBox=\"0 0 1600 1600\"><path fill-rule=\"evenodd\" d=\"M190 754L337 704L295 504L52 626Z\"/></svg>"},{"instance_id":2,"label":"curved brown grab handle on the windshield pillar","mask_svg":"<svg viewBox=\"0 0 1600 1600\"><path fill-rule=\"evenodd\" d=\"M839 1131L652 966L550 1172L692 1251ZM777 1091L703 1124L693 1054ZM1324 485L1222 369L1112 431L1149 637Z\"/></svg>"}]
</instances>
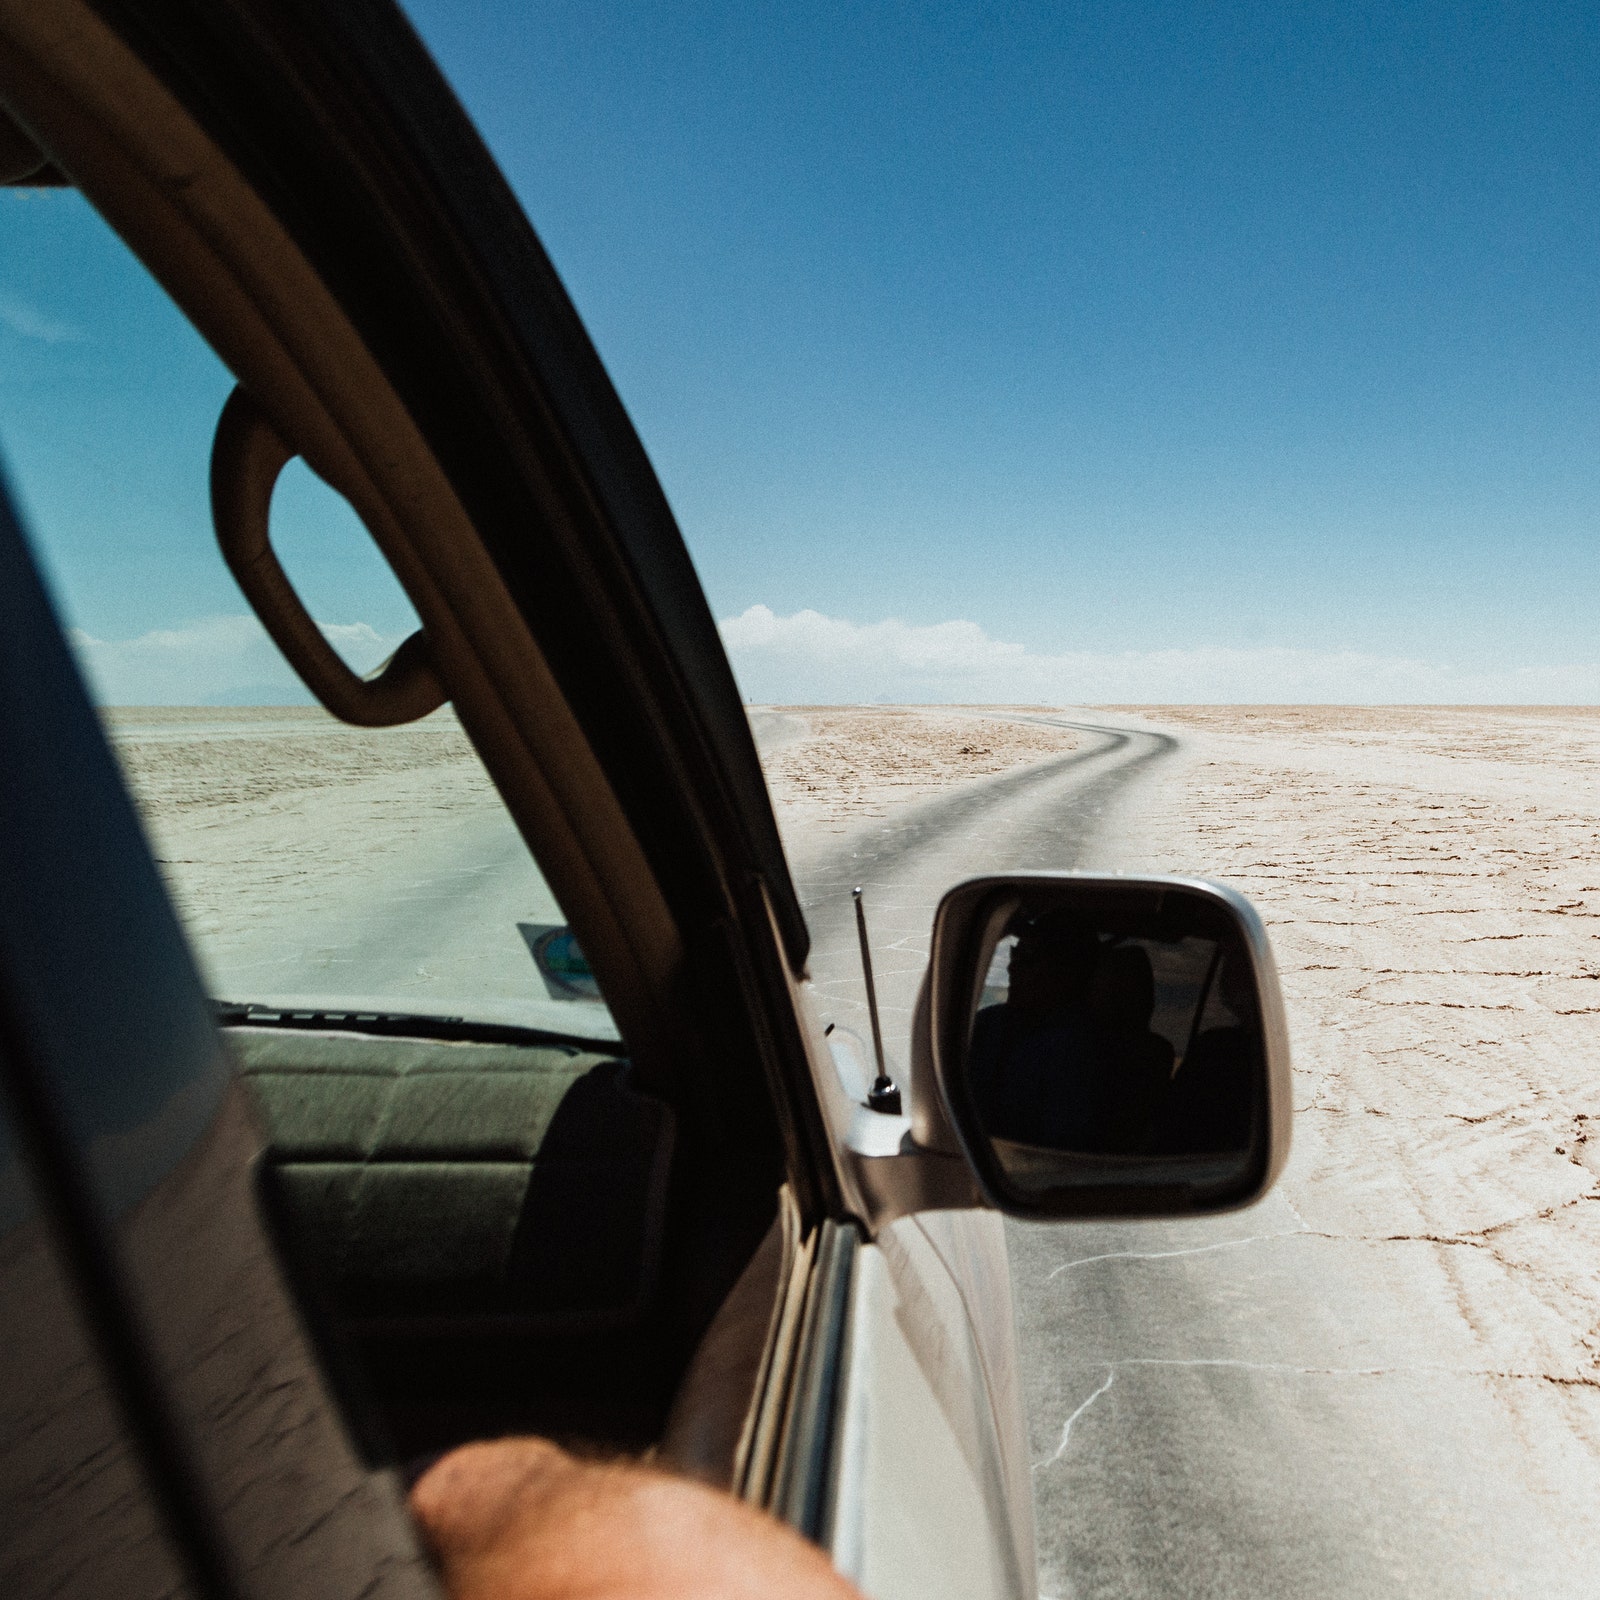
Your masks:
<instances>
[{"instance_id":1,"label":"curved brown grab handle on the windshield pillar","mask_svg":"<svg viewBox=\"0 0 1600 1600\"><path fill-rule=\"evenodd\" d=\"M211 443L211 523L222 560L272 643L299 680L342 722L392 728L445 704L445 688L418 629L365 678L328 643L278 565L270 539L272 490L296 451L238 386Z\"/></svg>"}]
</instances>

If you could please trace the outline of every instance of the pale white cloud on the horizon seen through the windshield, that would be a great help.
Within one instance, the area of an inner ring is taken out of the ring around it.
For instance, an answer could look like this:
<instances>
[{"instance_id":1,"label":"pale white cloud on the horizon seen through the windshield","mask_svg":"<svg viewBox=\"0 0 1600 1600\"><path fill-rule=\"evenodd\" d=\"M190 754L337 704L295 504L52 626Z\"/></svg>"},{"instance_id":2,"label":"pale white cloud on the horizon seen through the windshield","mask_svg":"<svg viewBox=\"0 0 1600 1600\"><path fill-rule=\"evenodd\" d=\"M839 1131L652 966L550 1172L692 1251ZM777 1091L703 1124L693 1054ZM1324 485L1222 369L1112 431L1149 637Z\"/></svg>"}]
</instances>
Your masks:
<instances>
[{"instance_id":1,"label":"pale white cloud on the horizon seen through the windshield","mask_svg":"<svg viewBox=\"0 0 1600 1600\"><path fill-rule=\"evenodd\" d=\"M366 622L318 622L357 672L400 643ZM253 616L208 616L138 638L94 638L70 630L72 648L104 706L301 704L293 669Z\"/></svg>"}]
</instances>

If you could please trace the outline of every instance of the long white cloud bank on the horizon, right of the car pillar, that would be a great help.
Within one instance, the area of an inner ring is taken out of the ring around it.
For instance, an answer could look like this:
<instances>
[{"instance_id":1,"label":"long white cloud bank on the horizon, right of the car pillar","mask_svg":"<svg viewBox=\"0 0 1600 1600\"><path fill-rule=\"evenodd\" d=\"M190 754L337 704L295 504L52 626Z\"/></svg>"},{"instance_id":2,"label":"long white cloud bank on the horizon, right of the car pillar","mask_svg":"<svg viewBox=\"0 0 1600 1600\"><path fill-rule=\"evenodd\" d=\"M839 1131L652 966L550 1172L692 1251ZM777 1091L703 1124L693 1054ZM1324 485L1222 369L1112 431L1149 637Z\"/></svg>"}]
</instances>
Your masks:
<instances>
[{"instance_id":1,"label":"long white cloud bank on the horizon, right of the car pillar","mask_svg":"<svg viewBox=\"0 0 1600 1600\"><path fill-rule=\"evenodd\" d=\"M1040 654L976 622L850 622L754 605L722 624L757 704L1600 702L1600 662L1458 670L1411 656L1317 650L1126 650Z\"/></svg>"}]
</instances>

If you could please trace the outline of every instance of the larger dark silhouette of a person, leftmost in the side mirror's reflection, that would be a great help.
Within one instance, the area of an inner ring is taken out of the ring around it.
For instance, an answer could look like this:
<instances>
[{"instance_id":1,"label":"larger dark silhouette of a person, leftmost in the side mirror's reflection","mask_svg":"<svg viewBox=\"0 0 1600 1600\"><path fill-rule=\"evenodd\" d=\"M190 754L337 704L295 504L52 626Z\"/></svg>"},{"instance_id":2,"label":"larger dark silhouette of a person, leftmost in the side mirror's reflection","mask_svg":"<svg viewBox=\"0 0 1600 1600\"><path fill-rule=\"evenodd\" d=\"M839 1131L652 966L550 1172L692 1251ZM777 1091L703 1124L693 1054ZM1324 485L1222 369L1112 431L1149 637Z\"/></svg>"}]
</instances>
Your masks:
<instances>
[{"instance_id":1,"label":"larger dark silhouette of a person, leftmost in the side mirror's reflection","mask_svg":"<svg viewBox=\"0 0 1600 1600\"><path fill-rule=\"evenodd\" d=\"M1075 917L1018 918L1006 998L973 1019L968 1082L990 1138L1094 1149L1088 994L1099 936Z\"/></svg>"}]
</instances>

